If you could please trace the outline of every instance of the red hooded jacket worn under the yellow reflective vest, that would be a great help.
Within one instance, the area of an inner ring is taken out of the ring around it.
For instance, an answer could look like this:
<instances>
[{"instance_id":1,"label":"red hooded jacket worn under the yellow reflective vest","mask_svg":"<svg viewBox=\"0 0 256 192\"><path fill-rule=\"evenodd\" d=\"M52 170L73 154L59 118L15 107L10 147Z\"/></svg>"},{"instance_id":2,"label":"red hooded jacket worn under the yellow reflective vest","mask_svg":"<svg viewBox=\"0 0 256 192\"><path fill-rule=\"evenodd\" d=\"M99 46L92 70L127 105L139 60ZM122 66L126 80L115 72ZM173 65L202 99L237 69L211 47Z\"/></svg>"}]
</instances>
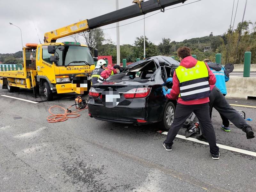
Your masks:
<instances>
[{"instance_id":1,"label":"red hooded jacket worn under the yellow reflective vest","mask_svg":"<svg viewBox=\"0 0 256 192\"><path fill-rule=\"evenodd\" d=\"M195 67L197 63L197 60L192 57L192 56L188 56L185 57L181 62L180 62L180 66L183 66L185 68L192 68ZM209 84L210 85L214 85L216 82L216 78L214 76L214 74L212 73L211 69L208 67L208 65L205 63L207 69L208 69L208 73L209 73ZM172 85L172 90L170 92L170 94L166 94L165 97L167 99L177 99L177 97L180 94L180 82L177 78L176 75L176 71L173 74L173 85ZM191 100L191 101L184 101L182 100L180 97L178 98L178 103L183 104L183 105L198 105L198 104L203 104L203 103L208 103L209 102L209 97L206 98L202 98L202 99L197 99L197 100Z\"/></svg>"}]
</instances>

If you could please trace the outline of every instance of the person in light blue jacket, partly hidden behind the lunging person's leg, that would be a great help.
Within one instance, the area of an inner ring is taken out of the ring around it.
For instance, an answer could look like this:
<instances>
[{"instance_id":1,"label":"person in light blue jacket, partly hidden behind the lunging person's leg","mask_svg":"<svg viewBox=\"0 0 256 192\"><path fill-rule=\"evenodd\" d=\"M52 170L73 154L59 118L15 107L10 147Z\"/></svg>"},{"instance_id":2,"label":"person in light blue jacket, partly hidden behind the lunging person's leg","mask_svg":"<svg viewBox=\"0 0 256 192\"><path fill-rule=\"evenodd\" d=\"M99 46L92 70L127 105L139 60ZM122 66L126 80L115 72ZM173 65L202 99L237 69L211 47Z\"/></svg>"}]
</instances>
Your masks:
<instances>
[{"instance_id":1,"label":"person in light blue jacket, partly hidden behind the lunging person's leg","mask_svg":"<svg viewBox=\"0 0 256 192\"><path fill-rule=\"evenodd\" d=\"M213 63L209 59L204 60L205 63L208 64L209 68L213 72L216 77L215 86L220 90L220 92L225 96L227 94L226 82L229 80L229 74L219 63ZM210 116L212 117L212 106L210 106ZM220 114L222 119L221 129L226 132L230 132L229 121L228 118Z\"/></svg>"}]
</instances>

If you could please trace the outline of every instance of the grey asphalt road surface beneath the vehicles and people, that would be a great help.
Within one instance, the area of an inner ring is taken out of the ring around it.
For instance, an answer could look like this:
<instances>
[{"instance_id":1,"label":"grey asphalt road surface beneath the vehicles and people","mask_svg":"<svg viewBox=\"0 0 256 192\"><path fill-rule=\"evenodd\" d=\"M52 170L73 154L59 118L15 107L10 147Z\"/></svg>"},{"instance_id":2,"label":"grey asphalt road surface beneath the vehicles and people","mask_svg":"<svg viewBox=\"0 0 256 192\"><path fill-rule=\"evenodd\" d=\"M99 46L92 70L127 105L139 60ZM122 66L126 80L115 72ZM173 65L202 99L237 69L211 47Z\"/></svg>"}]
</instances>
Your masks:
<instances>
[{"instance_id":1,"label":"grey asphalt road surface beneath the vehicles and people","mask_svg":"<svg viewBox=\"0 0 256 192\"><path fill-rule=\"evenodd\" d=\"M99 121L85 109L79 118L50 124L48 108L67 108L75 94L51 102L33 98L33 91L0 95L0 191L252 191L256 189L256 157L220 149L213 160L207 145L176 138L172 152L162 146L166 135L157 124L134 127ZM256 106L255 100L228 100ZM246 112L256 132L256 108ZM256 152L256 139L231 125L220 129L214 110L212 122L217 143ZM185 135L181 128L180 135Z\"/></svg>"}]
</instances>

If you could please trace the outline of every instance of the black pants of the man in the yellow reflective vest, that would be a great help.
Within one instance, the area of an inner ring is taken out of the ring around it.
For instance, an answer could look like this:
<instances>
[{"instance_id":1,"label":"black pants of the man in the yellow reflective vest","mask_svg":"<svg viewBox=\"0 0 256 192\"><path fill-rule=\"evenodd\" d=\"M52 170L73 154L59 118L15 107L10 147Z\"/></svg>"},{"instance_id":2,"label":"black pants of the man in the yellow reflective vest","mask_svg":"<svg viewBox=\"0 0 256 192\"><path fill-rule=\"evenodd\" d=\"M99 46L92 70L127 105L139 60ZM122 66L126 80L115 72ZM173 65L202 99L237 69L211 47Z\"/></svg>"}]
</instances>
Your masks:
<instances>
[{"instance_id":1,"label":"black pants of the man in the yellow reflective vest","mask_svg":"<svg viewBox=\"0 0 256 192\"><path fill-rule=\"evenodd\" d=\"M173 144L173 140L176 137L178 131L180 130L180 127L184 124L184 122L192 112L196 114L200 122L200 127L203 130L202 133L209 142L210 152L212 154L218 154L219 148L216 145L216 136L209 114L208 103L199 105L182 105L178 103L176 106L176 113L173 123L164 142L168 144Z\"/></svg>"}]
</instances>

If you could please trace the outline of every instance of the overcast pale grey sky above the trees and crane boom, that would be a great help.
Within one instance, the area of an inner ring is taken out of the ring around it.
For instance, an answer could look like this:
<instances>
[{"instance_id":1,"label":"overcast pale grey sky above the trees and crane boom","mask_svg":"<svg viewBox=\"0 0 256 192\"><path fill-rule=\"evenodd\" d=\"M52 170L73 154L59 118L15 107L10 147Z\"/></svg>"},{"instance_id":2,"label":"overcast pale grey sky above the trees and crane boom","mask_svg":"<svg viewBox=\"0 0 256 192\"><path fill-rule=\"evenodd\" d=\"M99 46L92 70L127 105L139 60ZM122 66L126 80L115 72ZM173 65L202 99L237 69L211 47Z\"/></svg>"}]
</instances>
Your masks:
<instances>
[{"instance_id":1,"label":"overcast pale grey sky above the trees and crane boom","mask_svg":"<svg viewBox=\"0 0 256 192\"><path fill-rule=\"evenodd\" d=\"M196 0L188 0L191 3ZM235 0L236 6L237 0ZM119 8L132 5L132 0L119 0ZM181 4L173 5L175 7ZM245 0L239 0L235 26L242 20ZM162 37L172 41L183 41L194 37L220 35L227 31L230 24L233 0L202 0L186 6L166 10L145 19L146 36L155 44ZM168 7L168 8L171 8ZM256 1L248 0L244 20L256 21ZM167 9L167 8L166 8ZM75 23L79 20L91 19L116 10L116 0L43 0L43 1L0 1L0 53L14 53L21 50L20 30L23 45L41 43L44 33ZM159 11L156 11L159 12ZM156 12L146 14L146 17ZM143 16L120 22L120 25L139 20ZM35 27L36 26L36 27ZM116 24L102 28L115 27ZM104 30L107 37L116 43L116 29ZM133 44L137 36L143 35L143 20L120 27L120 44ZM72 41L68 37L65 41ZM58 40L57 40L58 41ZM60 40L62 42L64 40Z\"/></svg>"}]
</instances>

